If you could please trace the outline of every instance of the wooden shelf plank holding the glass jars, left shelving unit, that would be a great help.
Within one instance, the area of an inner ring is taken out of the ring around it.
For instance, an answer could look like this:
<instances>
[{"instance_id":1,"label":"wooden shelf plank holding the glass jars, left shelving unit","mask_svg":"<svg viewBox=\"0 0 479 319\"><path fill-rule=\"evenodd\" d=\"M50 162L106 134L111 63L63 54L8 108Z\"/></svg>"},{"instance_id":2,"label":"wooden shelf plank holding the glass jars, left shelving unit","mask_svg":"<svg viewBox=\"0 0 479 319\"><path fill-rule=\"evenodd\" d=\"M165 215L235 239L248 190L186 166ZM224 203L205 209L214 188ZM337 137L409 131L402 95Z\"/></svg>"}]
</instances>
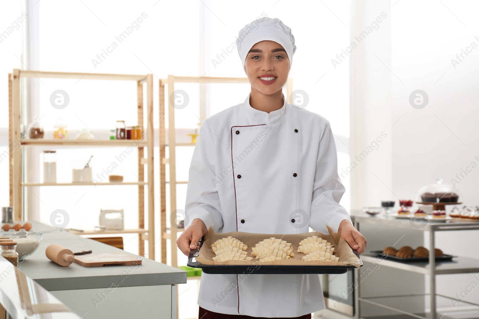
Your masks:
<instances>
[{"instance_id":1,"label":"wooden shelf plank holding the glass jars, left shelving unit","mask_svg":"<svg viewBox=\"0 0 479 319\"><path fill-rule=\"evenodd\" d=\"M68 139L24 139L22 145L57 145L57 146L147 146L147 141L137 140L68 140Z\"/></svg>"}]
</instances>

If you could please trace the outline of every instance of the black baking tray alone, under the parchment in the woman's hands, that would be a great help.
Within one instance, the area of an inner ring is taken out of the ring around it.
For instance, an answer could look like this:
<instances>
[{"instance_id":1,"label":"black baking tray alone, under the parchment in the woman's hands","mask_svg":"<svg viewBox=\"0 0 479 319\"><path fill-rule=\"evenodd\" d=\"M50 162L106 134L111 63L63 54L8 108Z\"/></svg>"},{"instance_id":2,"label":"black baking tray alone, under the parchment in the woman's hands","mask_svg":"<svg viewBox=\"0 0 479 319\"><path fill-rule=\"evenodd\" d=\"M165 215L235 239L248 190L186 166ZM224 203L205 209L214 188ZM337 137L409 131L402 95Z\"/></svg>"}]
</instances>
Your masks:
<instances>
[{"instance_id":1,"label":"black baking tray alone, under the parchment in the woman's hands","mask_svg":"<svg viewBox=\"0 0 479 319\"><path fill-rule=\"evenodd\" d=\"M247 271L248 268L251 270L251 264L245 265L210 265L210 264L201 264L193 258L198 256L198 252L201 249L201 246L205 242L205 237L200 241L200 245L196 249L190 249L190 254L188 255L188 263L186 265L194 268L201 268L202 272L206 274L242 274ZM353 249L353 253L358 257L361 262L360 266L363 266L363 261L357 250ZM254 270L254 274L345 274L348 269L356 268L353 265L261 265L260 267Z\"/></svg>"}]
</instances>

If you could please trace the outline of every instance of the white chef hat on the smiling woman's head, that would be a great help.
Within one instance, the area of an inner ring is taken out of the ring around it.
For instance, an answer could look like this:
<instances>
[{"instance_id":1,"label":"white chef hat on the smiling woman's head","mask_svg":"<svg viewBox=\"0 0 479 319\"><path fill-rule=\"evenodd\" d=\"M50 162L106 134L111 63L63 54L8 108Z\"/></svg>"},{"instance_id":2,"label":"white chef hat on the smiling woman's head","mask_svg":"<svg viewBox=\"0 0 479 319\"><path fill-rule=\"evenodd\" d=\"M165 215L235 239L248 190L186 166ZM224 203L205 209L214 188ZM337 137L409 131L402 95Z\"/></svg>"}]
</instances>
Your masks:
<instances>
[{"instance_id":1,"label":"white chef hat on the smiling woman's head","mask_svg":"<svg viewBox=\"0 0 479 319\"><path fill-rule=\"evenodd\" d=\"M243 69L246 71L244 62L253 45L265 40L277 42L285 48L289 59L289 68L291 69L293 55L296 51L295 37L291 33L291 28L285 25L283 21L269 17L254 20L239 30L236 45Z\"/></svg>"}]
</instances>

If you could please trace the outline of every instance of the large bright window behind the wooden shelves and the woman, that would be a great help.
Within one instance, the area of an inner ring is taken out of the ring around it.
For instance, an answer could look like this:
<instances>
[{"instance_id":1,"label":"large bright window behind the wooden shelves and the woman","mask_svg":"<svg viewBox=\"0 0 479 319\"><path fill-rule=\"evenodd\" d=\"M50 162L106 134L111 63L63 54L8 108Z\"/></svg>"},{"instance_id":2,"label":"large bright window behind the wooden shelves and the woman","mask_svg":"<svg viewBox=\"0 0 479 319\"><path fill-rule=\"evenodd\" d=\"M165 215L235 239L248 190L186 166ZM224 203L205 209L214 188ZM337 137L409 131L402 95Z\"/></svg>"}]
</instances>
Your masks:
<instances>
[{"instance_id":1,"label":"large bright window behind the wooden shelves and the woman","mask_svg":"<svg viewBox=\"0 0 479 319\"><path fill-rule=\"evenodd\" d=\"M30 67L45 71L85 73L154 74L154 122L158 133L158 78L169 74L177 76L245 77L236 48L231 48L239 30L252 20L277 17L290 26L296 39L290 76L294 89L308 94L307 110L316 112L331 122L338 149L339 170L349 165L349 60L333 65L349 44L349 2L304 1L295 3L295 12L287 1L263 3L239 1L231 11L231 3L222 1L149 1L95 2L95 1L39 1L34 3L29 18L36 32L25 33L22 47L22 28L0 43L2 64L0 97L7 105L7 73L21 65L23 53L34 57ZM192 4L193 3L193 4ZM11 22L22 16L22 8L15 3L3 3L0 11L0 31L9 30ZM172 14L174 12L174 14ZM300 12L301 14L298 14ZM21 26L21 23L20 23ZM18 28L18 30L16 30ZM224 52L229 52L225 55ZM218 56L223 57L218 58ZM114 129L116 120L127 120L135 125L136 93L132 83L92 80L32 79L32 113L41 117L50 136L53 126L62 118L68 125L70 138L83 128L97 136L106 137ZM200 86L178 84L190 94L186 112L177 112L178 129L194 129L200 117L198 98ZM57 110L50 105L54 90L68 92L67 108ZM248 85L208 85L205 88L205 115L242 102L248 94ZM1 147L7 146L6 107L1 109ZM29 121L32 119L29 119ZM181 138L179 136L179 138ZM156 141L158 143L158 141ZM41 153L45 148L31 148L28 161L38 163L31 168L30 180L42 181ZM178 180L188 178L187 171L193 148L178 149ZM73 163L88 160L93 176L111 162L115 151L101 148L59 149L57 158L58 181L71 179ZM156 150L158 163L158 149ZM136 180L136 156L124 163L125 179ZM8 176L8 160L0 163L2 176ZM158 176L156 168L156 176ZM157 177L155 193L159 197ZM346 187L349 181L343 180ZM0 184L2 205L8 204L8 179ZM178 208L184 207L186 186L178 187ZM70 227L88 228L98 224L100 209L124 208L125 227L136 227L136 187L32 187L26 191L30 200L37 201L38 216L48 222L50 213L64 209L70 215ZM122 198L122 200L117 200ZM342 204L349 208L348 193ZM159 200L155 211L159 216ZM158 220L158 219L157 219ZM133 238L133 237L132 237ZM157 236L159 238L159 236ZM135 251L136 240L125 238L125 249ZM157 253L158 253L157 248Z\"/></svg>"}]
</instances>

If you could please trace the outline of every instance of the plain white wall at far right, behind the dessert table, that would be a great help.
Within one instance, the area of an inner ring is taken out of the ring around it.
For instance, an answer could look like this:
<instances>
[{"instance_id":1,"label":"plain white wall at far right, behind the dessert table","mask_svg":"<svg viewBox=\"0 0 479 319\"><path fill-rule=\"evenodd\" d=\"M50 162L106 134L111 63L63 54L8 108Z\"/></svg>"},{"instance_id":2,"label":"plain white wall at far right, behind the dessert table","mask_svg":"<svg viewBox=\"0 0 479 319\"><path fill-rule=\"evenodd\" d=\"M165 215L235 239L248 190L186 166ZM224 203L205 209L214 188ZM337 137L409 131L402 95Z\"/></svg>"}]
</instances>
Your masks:
<instances>
[{"instance_id":1,"label":"plain white wall at far right, behind the dessert table","mask_svg":"<svg viewBox=\"0 0 479 319\"><path fill-rule=\"evenodd\" d=\"M471 42L479 45L478 10L477 1L401 0L392 7L391 71L402 82L391 75L392 114L400 118L393 128L392 175L393 192L401 198L413 198L438 177L451 184L461 169L473 161L479 164L474 158L479 155L479 48L456 67L451 63ZM422 110L409 104L415 89L429 96ZM478 185L479 169L456 185L465 204L479 204ZM439 233L436 247L479 259L478 236L479 231ZM438 292L454 296L474 275L438 276ZM465 300L478 299L476 289Z\"/></svg>"}]
</instances>

